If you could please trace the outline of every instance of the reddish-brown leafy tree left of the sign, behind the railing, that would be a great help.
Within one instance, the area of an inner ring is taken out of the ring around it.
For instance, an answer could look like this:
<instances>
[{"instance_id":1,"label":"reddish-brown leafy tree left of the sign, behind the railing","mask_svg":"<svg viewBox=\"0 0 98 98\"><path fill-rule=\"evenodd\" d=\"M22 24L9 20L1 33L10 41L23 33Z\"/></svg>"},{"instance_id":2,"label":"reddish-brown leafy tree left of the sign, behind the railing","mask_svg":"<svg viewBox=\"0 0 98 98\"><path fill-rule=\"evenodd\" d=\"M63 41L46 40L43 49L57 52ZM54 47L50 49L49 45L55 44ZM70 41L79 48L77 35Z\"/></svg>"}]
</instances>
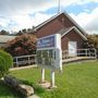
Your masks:
<instances>
[{"instance_id":1,"label":"reddish-brown leafy tree left of the sign, behind the railing","mask_svg":"<svg viewBox=\"0 0 98 98\"><path fill-rule=\"evenodd\" d=\"M36 52L36 39L35 35L21 35L9 41L5 50L13 57L33 54Z\"/></svg>"}]
</instances>

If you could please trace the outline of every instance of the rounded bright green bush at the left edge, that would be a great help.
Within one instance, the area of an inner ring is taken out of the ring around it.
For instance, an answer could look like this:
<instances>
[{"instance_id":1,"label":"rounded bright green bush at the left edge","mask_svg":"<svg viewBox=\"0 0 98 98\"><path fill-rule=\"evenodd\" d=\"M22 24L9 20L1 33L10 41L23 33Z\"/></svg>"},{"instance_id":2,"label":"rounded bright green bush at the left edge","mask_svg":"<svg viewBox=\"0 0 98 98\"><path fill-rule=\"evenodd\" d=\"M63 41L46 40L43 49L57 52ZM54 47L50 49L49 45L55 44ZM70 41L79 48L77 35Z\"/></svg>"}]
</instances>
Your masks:
<instances>
[{"instance_id":1,"label":"rounded bright green bush at the left edge","mask_svg":"<svg viewBox=\"0 0 98 98\"><path fill-rule=\"evenodd\" d=\"M9 53L0 50L0 78L8 74L12 64L12 57Z\"/></svg>"}]
</instances>

